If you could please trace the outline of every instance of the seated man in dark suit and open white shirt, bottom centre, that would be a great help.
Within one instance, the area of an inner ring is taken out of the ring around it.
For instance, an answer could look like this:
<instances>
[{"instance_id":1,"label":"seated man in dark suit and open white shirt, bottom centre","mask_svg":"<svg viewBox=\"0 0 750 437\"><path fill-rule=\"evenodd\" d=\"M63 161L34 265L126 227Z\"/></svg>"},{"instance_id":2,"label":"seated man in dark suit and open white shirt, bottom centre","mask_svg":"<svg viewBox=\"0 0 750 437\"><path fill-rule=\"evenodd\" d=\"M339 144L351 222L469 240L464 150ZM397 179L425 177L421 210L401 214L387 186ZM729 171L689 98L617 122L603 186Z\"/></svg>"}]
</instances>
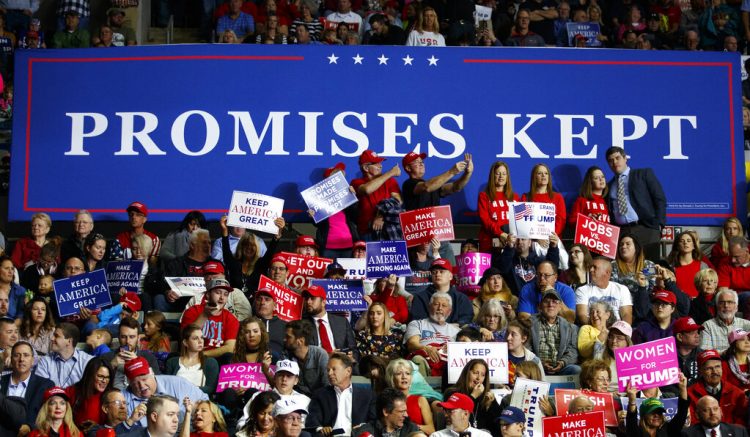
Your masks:
<instances>
[{"instance_id":1,"label":"seated man in dark suit and open white shirt, bottom centre","mask_svg":"<svg viewBox=\"0 0 750 437\"><path fill-rule=\"evenodd\" d=\"M318 389L310 401L305 426L319 436L330 437L335 429L352 435L352 428L376 419L372 390L352 385L352 360L335 352L328 360L330 386Z\"/></svg>"}]
</instances>

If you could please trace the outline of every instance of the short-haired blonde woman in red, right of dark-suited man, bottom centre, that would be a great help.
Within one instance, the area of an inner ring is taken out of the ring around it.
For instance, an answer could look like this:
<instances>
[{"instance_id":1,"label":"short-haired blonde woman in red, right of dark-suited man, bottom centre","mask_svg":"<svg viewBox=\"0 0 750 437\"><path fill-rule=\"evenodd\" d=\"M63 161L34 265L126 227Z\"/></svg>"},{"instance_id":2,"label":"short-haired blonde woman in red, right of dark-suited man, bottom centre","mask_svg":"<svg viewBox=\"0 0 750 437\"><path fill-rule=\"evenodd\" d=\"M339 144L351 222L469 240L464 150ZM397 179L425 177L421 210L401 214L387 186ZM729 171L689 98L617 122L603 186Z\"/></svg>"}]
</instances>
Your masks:
<instances>
[{"instance_id":1,"label":"short-haired blonde woman in red, right of dark-suited man, bottom centre","mask_svg":"<svg viewBox=\"0 0 750 437\"><path fill-rule=\"evenodd\" d=\"M414 370L411 362L403 358L391 361L385 369L385 380L389 387L400 390L406 395L406 412L409 419L419 426L419 429L425 434L435 432L435 425L432 420L432 409L430 402L424 396L427 393L419 393L415 390L418 386L414 384L414 377L421 378L419 372ZM429 387L429 386L428 386Z\"/></svg>"}]
</instances>

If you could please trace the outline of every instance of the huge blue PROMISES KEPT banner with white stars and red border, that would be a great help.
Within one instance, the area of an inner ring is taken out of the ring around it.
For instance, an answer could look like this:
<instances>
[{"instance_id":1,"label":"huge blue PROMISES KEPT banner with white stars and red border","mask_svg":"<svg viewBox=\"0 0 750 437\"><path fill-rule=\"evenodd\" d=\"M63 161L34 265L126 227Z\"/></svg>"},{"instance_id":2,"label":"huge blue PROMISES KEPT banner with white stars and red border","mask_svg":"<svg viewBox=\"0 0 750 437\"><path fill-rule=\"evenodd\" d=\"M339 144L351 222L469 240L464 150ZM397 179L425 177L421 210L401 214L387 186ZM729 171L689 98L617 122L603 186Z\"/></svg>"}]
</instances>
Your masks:
<instances>
[{"instance_id":1,"label":"huge blue PROMISES KEPT banner with white stars and red border","mask_svg":"<svg viewBox=\"0 0 750 437\"><path fill-rule=\"evenodd\" d=\"M134 200L152 221L216 218L234 190L283 198L285 218L306 221L299 192L336 162L359 177L368 148L386 169L426 153L427 176L471 153L474 176L445 199L456 223L478 222L492 162L519 193L549 165L572 205L588 167L612 176L612 145L655 170L669 224L745 212L735 53L206 44L25 50L15 64L14 221L82 208L125 220ZM113 88L124 72L147 80Z\"/></svg>"}]
</instances>

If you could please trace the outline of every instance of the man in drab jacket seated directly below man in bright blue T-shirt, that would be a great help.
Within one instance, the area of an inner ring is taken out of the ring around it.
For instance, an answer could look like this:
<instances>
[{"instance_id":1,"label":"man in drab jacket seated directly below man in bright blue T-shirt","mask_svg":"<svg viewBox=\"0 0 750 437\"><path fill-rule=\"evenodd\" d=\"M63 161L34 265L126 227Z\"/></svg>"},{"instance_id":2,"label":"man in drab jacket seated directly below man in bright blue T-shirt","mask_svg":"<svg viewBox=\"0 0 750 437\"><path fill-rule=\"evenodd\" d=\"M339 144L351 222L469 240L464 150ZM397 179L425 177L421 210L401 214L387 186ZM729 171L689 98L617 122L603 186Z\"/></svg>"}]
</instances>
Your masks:
<instances>
[{"instance_id":1,"label":"man in drab jacket seated directly below man in bright blue T-shirt","mask_svg":"<svg viewBox=\"0 0 750 437\"><path fill-rule=\"evenodd\" d=\"M531 316L531 351L548 375L577 375L578 327L560 316L562 299L557 290L544 291L539 312Z\"/></svg>"}]
</instances>

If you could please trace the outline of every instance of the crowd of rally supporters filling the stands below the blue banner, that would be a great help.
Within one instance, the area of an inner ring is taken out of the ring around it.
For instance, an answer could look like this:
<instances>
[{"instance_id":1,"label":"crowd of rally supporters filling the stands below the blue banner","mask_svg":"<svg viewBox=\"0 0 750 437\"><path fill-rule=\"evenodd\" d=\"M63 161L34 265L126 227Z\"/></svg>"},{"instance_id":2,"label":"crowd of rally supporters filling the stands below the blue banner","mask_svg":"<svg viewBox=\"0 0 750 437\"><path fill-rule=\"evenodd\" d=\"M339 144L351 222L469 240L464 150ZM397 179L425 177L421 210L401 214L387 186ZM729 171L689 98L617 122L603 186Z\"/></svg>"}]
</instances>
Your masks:
<instances>
[{"instance_id":1,"label":"crowd of rally supporters filling the stands below the blue banner","mask_svg":"<svg viewBox=\"0 0 750 437\"><path fill-rule=\"evenodd\" d=\"M314 237L295 239L297 255L333 259L325 279L345 278L339 260L366 258L367 242L403 239L400 212L439 206L475 172L470 154L432 175L425 154L387 171L384 161L363 152L361 177L348 179L358 202L319 222ZM741 222L728 219L705 252L697 233L682 232L662 258L658 178L630 168L618 147L606 161L609 180L591 167L572 205L546 165L534 166L518 193L511 168L493 163L477 199L477 238L460 242L460 254L491 254L479 292L456 288L454 247L433 238L409 249L413 277L371 284L361 313L329 312L319 285L290 286L283 217L264 239L223 216L212 242L200 211L164 238L146 229L149 210L138 201L114 238L96 232L85 210L67 238L50 235L49 216L37 213L30 235L0 258L0 435L521 436L527 417L495 389L549 375L578 375L582 389L613 394L611 435L747 435L750 249ZM324 176L336 172L346 176L345 163ZM548 239L511 232L514 200L555 206ZM565 247L560 235L579 213L620 228L614 260ZM116 260L143 262L137 292L110 290L111 307L61 316L53 281ZM205 291L183 295L173 277L202 277ZM260 286L266 279L299 296L299 320L279 319L280 295ZM676 341L679 383L618 393L615 351L667 337ZM482 359L449 383L449 342L506 343L508 384L492 384ZM269 389L219 387L227 364L253 364ZM667 398L678 398L671 422ZM557 411L544 397L540 408L556 416L594 405L582 396Z\"/></svg>"}]
</instances>

